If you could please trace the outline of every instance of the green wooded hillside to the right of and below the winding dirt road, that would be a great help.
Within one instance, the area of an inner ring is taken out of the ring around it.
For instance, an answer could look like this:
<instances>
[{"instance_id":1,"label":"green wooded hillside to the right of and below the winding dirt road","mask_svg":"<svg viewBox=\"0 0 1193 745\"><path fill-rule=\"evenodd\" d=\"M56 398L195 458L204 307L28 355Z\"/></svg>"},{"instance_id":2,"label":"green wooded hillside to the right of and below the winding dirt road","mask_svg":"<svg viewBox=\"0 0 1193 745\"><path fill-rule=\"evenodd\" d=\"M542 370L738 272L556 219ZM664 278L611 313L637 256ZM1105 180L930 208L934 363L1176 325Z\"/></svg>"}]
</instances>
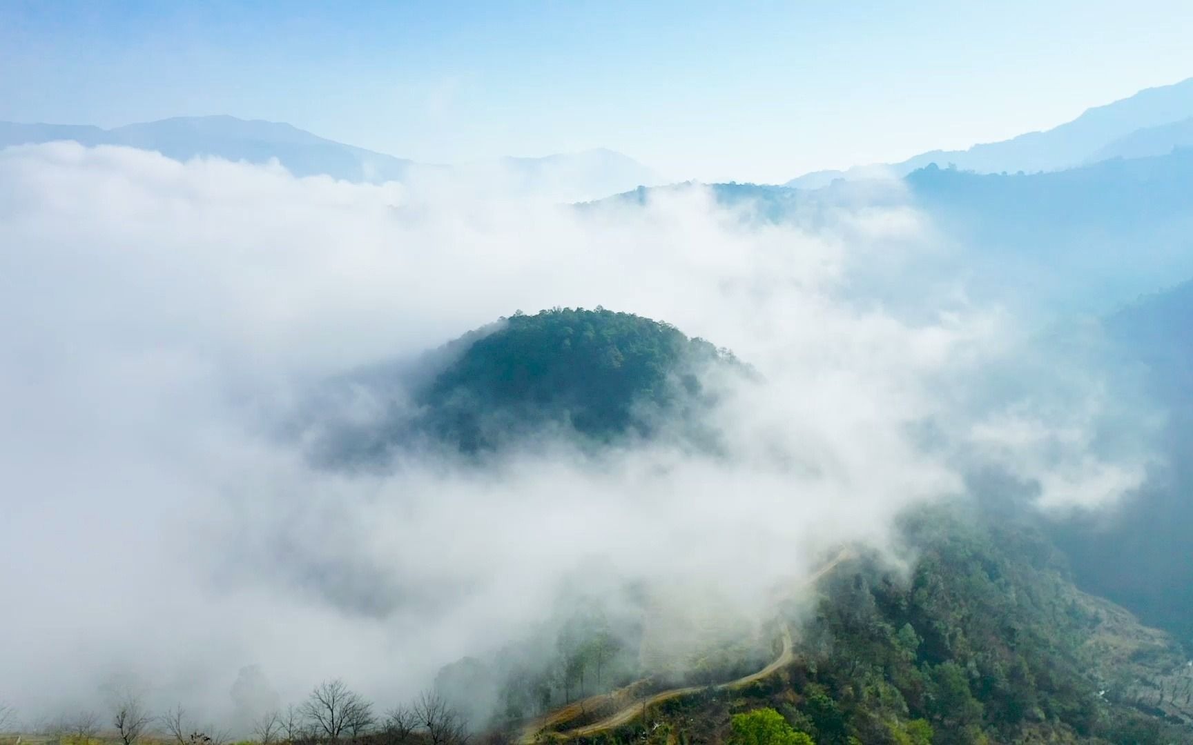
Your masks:
<instances>
[{"instance_id":1,"label":"green wooded hillside to the right of and below the winding dirt road","mask_svg":"<svg viewBox=\"0 0 1193 745\"><path fill-rule=\"evenodd\" d=\"M933 508L903 540L909 575L863 555L821 582L785 670L672 697L591 741L724 741L733 714L760 707L820 745L1193 738L1179 646L1074 588L1030 524Z\"/></svg>"}]
</instances>

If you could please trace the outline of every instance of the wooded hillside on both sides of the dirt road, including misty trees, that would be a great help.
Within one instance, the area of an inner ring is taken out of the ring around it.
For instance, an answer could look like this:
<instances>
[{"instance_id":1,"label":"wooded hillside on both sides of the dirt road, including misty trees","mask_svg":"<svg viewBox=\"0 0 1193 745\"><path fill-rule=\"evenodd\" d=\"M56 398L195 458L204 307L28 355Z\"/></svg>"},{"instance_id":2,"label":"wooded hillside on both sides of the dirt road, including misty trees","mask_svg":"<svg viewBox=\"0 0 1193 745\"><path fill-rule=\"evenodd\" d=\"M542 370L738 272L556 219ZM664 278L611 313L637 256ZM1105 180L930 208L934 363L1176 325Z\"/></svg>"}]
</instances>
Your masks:
<instances>
[{"instance_id":1,"label":"wooded hillside on both sides of the dirt road, including misty trees","mask_svg":"<svg viewBox=\"0 0 1193 745\"><path fill-rule=\"evenodd\" d=\"M490 701L489 728L518 732L530 716L560 712L540 743L1193 741L1193 668L1180 645L1077 590L1034 517L933 505L905 514L897 535L911 567L860 547L839 554L817 582L814 608L796 602L780 611L796 629L793 656L747 684L710 685L764 664L740 639L710 637L660 668L648 637L622 629L611 646L610 619L593 608L577 609L555 638L536 638L545 656L508 648L468 658L445 668L440 682L462 708ZM484 689L492 699L477 695ZM577 733L660 689L674 695L635 706L608 730ZM593 696L610 690L620 693ZM565 707L576 700L585 703ZM734 718L759 709L809 739L734 737Z\"/></svg>"}]
</instances>

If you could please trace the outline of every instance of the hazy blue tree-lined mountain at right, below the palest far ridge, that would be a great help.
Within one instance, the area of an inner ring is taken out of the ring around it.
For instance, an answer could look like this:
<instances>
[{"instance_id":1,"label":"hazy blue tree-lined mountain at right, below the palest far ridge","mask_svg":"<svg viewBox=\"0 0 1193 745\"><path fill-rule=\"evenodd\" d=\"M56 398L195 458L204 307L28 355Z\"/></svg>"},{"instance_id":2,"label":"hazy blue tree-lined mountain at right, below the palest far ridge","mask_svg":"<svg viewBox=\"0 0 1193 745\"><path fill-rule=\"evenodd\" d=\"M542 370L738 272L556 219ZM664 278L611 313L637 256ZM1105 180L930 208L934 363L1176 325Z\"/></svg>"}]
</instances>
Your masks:
<instances>
[{"instance_id":1,"label":"hazy blue tree-lined mountain at right, below the palest far ridge","mask_svg":"<svg viewBox=\"0 0 1193 745\"><path fill-rule=\"evenodd\" d=\"M1100 315L1193 277L1193 150L1025 175L929 167L904 182L956 248L938 269L979 299Z\"/></svg>"}]
</instances>

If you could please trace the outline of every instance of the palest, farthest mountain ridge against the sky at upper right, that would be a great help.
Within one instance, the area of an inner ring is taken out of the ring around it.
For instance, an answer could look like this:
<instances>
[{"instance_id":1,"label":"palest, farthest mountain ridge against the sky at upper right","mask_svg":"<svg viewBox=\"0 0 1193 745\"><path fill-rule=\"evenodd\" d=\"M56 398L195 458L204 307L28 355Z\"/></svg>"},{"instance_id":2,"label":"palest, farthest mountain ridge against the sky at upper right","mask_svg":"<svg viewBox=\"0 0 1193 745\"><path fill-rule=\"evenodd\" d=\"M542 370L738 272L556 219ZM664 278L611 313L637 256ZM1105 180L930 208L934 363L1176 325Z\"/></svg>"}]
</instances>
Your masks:
<instances>
[{"instance_id":1,"label":"palest, farthest mountain ridge against the sky at upper right","mask_svg":"<svg viewBox=\"0 0 1193 745\"><path fill-rule=\"evenodd\" d=\"M1107 157L1115 157L1112 144L1144 129L1160 131L1139 135L1152 143L1143 154L1160 155L1168 153L1172 145L1176 144L1175 142L1167 147L1160 144L1164 136L1183 136L1181 131L1168 131L1162 125L1191 116L1193 116L1193 77L1170 86L1146 88L1130 98L1089 108L1073 122L1043 132L1027 132L1002 142L976 144L966 150L931 150L898 163L855 167L848 170L817 170L795 178L785 186L820 188L834 179L867 178L874 170L902 176L929 163L941 167L952 163L959 169L977 173L1057 170L1102 160L1098 154L1104 149L1111 151Z\"/></svg>"}]
</instances>

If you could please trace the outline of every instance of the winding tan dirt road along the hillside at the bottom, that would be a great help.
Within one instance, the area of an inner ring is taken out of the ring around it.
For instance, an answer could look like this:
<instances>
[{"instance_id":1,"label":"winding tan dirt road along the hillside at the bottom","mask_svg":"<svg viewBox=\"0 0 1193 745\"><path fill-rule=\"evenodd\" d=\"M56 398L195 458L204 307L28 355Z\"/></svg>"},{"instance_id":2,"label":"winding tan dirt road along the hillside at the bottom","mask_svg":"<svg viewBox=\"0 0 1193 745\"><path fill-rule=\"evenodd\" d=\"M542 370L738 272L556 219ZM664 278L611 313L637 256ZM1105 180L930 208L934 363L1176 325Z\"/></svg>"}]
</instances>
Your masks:
<instances>
[{"instance_id":1,"label":"winding tan dirt road along the hillside at the bottom","mask_svg":"<svg viewBox=\"0 0 1193 745\"><path fill-rule=\"evenodd\" d=\"M808 586L815 584L821 577L833 571L837 564L849 558L848 550L843 550L837 553L832 561L824 564L820 567L816 573L801 583L799 586ZM737 678L736 681L729 681L728 683L721 683L715 685L716 690L731 690L735 688L744 688L750 683L761 681L762 678L769 677L775 671L786 665L791 664L796 659L795 645L791 640L791 629L786 625L783 627L783 651L775 657L771 664L762 668L758 672L752 672L744 677ZM707 690L706 685L688 685L685 688L670 688L668 690L659 691L645 699L638 699L625 707L613 712L608 716L595 721L591 725L583 725L576 727L575 730L569 730L567 732L551 732L550 728L555 725L575 719L577 715L583 714L588 710L588 707L596 707L601 703L607 703L608 701L616 700L618 696L624 696L631 691L635 685L642 684L644 681L637 681L626 685L625 688L619 688L617 690L610 691L607 694L596 694L594 696L588 696L587 699L581 699L580 701L574 701L565 707L555 709L550 714L534 719L525 730L523 730L521 735L518 738L519 745L532 745L537 743L540 734L546 737L562 737L562 738L577 738L577 737L589 737L596 734L598 732L605 732L606 730L614 730L622 725L633 721L639 714L647 710L651 706L662 703L663 701L669 701L672 699L678 699L680 696L688 696L692 694L698 694L701 690Z\"/></svg>"}]
</instances>

